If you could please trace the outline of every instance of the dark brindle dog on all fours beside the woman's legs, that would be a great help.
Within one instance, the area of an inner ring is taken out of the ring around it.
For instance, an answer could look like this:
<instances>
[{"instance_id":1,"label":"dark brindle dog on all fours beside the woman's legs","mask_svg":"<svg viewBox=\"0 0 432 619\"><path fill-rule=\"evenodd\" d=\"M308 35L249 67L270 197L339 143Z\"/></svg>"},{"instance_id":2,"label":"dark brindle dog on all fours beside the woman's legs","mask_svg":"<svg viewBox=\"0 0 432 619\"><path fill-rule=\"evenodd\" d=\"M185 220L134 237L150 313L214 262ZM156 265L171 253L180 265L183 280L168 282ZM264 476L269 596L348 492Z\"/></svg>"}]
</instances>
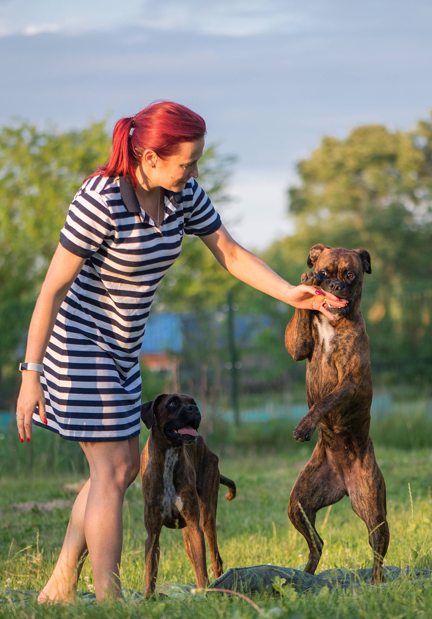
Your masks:
<instances>
[{"instance_id":1,"label":"dark brindle dog on all fours beside the woman's legs","mask_svg":"<svg viewBox=\"0 0 432 619\"><path fill-rule=\"evenodd\" d=\"M141 454L144 496L145 597L155 591L159 565L159 536L163 526L183 529L184 547L198 587L209 584L204 535L215 578L222 576L216 539L219 483L228 486L227 501L235 498L235 483L220 475L218 457L197 430L201 413L184 394L160 394L141 407L141 418L152 428ZM204 529L204 535L200 526Z\"/></svg>"}]
</instances>

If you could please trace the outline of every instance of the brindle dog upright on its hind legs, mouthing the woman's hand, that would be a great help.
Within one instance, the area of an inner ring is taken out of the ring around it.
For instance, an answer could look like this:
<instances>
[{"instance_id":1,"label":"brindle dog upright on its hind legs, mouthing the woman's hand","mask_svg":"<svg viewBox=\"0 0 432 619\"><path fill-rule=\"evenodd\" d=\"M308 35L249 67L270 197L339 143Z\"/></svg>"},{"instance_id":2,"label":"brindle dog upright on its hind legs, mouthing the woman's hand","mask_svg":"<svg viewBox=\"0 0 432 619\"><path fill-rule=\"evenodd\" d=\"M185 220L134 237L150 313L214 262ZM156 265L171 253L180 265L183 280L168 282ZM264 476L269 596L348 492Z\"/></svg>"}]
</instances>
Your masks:
<instances>
[{"instance_id":1,"label":"brindle dog upright on its hind legs, mouthing the woman's hand","mask_svg":"<svg viewBox=\"0 0 432 619\"><path fill-rule=\"evenodd\" d=\"M319 434L311 459L291 491L288 516L308 542L305 571L314 574L323 545L315 529L316 513L348 495L368 527L373 582L379 582L390 535L386 485L369 437L372 378L369 338L360 309L363 273L371 272L371 258L365 249L332 249L320 243L311 249L308 267L315 270L302 275L302 284L321 286L349 303L344 308L327 303L335 321L318 311L296 309L285 332L293 359L307 360L309 412L296 426L294 438L310 441L317 425Z\"/></svg>"}]
</instances>

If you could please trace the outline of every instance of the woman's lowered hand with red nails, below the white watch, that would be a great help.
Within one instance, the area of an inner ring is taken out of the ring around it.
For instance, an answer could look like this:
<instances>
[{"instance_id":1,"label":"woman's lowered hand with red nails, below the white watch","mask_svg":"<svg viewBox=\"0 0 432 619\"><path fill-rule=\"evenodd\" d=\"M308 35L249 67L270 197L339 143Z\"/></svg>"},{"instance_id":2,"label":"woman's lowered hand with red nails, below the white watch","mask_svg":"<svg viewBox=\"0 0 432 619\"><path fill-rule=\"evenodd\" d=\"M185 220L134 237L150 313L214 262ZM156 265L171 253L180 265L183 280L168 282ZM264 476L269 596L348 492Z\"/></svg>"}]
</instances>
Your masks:
<instances>
[{"instance_id":1,"label":"woman's lowered hand with red nails, below the white watch","mask_svg":"<svg viewBox=\"0 0 432 619\"><path fill-rule=\"evenodd\" d=\"M45 396L40 384L40 374L32 370L22 373L22 383L17 402L17 426L21 443L32 438L32 420L36 407L41 422L46 422Z\"/></svg>"}]
</instances>

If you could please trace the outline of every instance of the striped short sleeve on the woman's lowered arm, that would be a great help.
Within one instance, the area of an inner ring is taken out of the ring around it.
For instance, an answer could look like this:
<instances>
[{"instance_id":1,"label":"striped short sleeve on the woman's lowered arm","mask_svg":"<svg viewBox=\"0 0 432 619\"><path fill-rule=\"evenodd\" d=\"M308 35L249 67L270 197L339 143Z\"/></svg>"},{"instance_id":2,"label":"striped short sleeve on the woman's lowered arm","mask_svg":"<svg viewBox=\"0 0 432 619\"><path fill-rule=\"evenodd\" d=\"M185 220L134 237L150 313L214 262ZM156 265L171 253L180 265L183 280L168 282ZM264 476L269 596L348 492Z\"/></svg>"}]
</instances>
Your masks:
<instances>
[{"instance_id":1,"label":"striped short sleeve on the woman's lowered arm","mask_svg":"<svg viewBox=\"0 0 432 619\"><path fill-rule=\"evenodd\" d=\"M111 231L110 210L96 191L81 188L69 207L60 243L80 258L90 258Z\"/></svg>"}]
</instances>

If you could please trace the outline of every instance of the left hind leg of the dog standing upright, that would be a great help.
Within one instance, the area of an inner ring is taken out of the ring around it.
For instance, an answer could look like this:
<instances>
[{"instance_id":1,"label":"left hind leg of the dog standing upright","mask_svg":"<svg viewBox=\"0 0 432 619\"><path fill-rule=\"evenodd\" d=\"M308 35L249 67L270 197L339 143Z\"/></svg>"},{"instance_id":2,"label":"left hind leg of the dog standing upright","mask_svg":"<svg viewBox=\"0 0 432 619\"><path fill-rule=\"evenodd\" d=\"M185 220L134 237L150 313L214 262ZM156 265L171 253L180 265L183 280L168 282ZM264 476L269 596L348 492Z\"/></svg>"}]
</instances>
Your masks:
<instances>
[{"instance_id":1,"label":"left hind leg of the dog standing upright","mask_svg":"<svg viewBox=\"0 0 432 619\"><path fill-rule=\"evenodd\" d=\"M326 457L318 461L318 454L306 464L290 494L288 516L295 528L305 537L309 547L305 572L314 574L321 559L324 542L315 528L319 509L340 501L347 494L343 480L327 462Z\"/></svg>"}]
</instances>

